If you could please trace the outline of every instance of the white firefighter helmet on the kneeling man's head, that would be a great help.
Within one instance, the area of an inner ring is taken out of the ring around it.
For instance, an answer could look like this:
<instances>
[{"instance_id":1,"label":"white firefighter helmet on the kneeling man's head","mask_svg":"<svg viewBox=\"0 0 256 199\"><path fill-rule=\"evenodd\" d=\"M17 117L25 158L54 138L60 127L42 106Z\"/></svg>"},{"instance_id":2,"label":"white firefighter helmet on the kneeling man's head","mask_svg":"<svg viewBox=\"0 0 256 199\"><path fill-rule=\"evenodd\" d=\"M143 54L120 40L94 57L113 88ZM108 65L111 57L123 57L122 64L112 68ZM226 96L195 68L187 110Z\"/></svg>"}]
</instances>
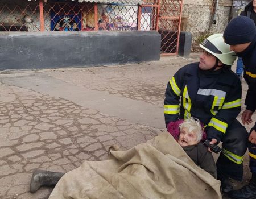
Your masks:
<instances>
[{"instance_id":1,"label":"white firefighter helmet on the kneeling man's head","mask_svg":"<svg viewBox=\"0 0 256 199\"><path fill-rule=\"evenodd\" d=\"M230 51L229 44L226 44L223 39L223 34L214 34L209 36L201 44L201 48L217 57L223 64L233 65L236 56L234 51Z\"/></svg>"}]
</instances>

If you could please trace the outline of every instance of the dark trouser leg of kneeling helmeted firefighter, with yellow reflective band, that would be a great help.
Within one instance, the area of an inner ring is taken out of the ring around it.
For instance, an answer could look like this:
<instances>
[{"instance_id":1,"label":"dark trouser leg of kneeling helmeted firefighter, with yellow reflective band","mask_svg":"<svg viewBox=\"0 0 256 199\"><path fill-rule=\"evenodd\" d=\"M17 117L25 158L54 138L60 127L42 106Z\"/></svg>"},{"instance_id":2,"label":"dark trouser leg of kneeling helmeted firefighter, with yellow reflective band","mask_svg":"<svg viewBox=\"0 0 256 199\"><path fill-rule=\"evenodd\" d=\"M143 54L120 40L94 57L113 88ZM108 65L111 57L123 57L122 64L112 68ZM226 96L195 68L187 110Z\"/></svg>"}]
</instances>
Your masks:
<instances>
[{"instance_id":1,"label":"dark trouser leg of kneeling helmeted firefighter, with yellow reflective band","mask_svg":"<svg viewBox=\"0 0 256 199\"><path fill-rule=\"evenodd\" d=\"M218 175L225 175L234 180L242 181L243 164L242 157L247 150L248 132L240 122L235 120L226 130L222 138L222 150L228 152L238 161L230 159L230 157L220 154L216 167Z\"/></svg>"}]
</instances>

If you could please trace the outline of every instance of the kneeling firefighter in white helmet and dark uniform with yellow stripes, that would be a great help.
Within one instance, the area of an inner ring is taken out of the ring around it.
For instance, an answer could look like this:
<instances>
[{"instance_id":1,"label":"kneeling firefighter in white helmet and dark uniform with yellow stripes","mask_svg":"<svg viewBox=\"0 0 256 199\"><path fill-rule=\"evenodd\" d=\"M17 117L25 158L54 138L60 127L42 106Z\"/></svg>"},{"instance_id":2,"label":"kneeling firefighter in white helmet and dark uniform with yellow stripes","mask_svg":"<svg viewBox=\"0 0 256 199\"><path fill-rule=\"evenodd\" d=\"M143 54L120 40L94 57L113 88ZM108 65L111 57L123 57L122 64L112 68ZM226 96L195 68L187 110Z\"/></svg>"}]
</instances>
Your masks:
<instances>
[{"instance_id":1,"label":"kneeling firefighter in white helmet and dark uniform with yellow stripes","mask_svg":"<svg viewBox=\"0 0 256 199\"><path fill-rule=\"evenodd\" d=\"M241 111L241 82L231 65L236 57L222 34L205 39L199 63L180 68L167 84L164 99L166 125L177 119L198 118L205 125L211 144L222 142L228 155L218 157L217 177L223 192L233 189L229 178L242 180L243 155L248 133L237 121ZM230 158L232 156L233 158Z\"/></svg>"}]
</instances>

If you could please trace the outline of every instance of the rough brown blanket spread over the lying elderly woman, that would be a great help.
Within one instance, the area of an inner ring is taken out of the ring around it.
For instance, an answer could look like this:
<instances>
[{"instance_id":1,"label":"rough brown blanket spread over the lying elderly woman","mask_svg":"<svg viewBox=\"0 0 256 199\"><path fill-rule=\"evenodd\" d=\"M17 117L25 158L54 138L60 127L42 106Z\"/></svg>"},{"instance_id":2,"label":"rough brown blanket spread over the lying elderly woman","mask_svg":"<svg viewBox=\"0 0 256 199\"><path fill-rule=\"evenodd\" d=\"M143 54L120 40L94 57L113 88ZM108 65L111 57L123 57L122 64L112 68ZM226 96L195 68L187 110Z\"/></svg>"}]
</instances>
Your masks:
<instances>
[{"instance_id":1,"label":"rough brown blanket spread over the lying elderly woman","mask_svg":"<svg viewBox=\"0 0 256 199\"><path fill-rule=\"evenodd\" d=\"M197 167L168 132L110 154L66 173L49 199L221 198L220 181Z\"/></svg>"}]
</instances>

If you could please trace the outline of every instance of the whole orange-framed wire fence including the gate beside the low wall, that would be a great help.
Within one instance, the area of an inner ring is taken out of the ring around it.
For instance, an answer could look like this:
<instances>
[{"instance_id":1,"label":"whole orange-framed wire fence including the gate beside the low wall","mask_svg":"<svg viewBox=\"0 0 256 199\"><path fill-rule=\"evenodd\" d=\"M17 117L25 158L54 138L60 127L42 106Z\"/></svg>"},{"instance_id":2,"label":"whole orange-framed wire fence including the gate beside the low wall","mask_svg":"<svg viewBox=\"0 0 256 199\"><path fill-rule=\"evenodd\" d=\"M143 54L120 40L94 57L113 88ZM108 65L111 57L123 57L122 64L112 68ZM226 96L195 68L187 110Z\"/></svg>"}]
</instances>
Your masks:
<instances>
[{"instance_id":1,"label":"whole orange-framed wire fence including the gate beside the low wall","mask_svg":"<svg viewBox=\"0 0 256 199\"><path fill-rule=\"evenodd\" d=\"M0 0L0 31L158 31L163 53L177 53L182 0L143 5L66 0Z\"/></svg>"}]
</instances>

